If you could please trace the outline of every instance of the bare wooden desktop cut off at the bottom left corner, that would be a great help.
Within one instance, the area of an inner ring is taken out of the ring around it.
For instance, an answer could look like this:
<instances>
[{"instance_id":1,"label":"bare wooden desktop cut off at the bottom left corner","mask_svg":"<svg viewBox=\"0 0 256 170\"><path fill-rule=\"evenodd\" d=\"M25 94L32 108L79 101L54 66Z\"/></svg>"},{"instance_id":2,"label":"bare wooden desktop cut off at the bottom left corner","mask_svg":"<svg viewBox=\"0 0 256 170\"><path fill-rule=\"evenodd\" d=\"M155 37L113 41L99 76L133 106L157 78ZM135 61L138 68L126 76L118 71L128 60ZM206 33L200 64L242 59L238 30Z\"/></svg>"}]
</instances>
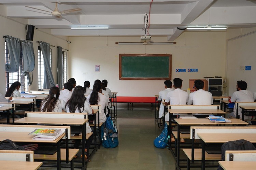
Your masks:
<instances>
[{"instance_id":1,"label":"bare wooden desktop cut off at the bottom left corner","mask_svg":"<svg viewBox=\"0 0 256 170\"><path fill-rule=\"evenodd\" d=\"M0 160L1 169L36 170L42 164L43 164L42 162L25 162L25 161Z\"/></svg>"}]
</instances>

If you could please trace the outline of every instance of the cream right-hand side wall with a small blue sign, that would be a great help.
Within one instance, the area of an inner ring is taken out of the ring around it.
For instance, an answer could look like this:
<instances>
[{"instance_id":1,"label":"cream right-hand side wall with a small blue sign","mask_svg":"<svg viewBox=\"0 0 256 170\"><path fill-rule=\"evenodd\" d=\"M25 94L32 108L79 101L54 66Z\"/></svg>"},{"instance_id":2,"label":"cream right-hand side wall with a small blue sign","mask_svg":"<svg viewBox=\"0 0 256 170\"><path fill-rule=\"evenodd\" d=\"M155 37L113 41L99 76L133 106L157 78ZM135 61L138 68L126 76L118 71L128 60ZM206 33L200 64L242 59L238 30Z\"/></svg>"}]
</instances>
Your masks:
<instances>
[{"instance_id":1,"label":"cream right-hand side wall with a small blue sign","mask_svg":"<svg viewBox=\"0 0 256 170\"><path fill-rule=\"evenodd\" d=\"M227 92L236 91L238 80L246 81L247 90L256 91L256 28L229 29L227 32ZM240 70L240 66L252 66L251 70Z\"/></svg>"}]
</instances>

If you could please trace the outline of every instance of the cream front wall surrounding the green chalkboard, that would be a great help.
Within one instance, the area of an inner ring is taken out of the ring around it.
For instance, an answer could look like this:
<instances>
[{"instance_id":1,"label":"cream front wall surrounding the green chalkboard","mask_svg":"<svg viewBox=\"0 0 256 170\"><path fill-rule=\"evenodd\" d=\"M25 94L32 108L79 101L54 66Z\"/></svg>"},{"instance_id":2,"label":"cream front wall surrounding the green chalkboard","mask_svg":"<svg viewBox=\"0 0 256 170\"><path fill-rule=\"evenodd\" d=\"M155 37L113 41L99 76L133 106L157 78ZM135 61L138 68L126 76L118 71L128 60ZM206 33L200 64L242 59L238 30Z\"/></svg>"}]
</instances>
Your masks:
<instances>
[{"instance_id":1,"label":"cream front wall surrounding the green chalkboard","mask_svg":"<svg viewBox=\"0 0 256 170\"><path fill-rule=\"evenodd\" d=\"M161 80L119 80L119 54L172 54L172 79L203 79L225 75L226 32L184 32L174 45L116 45L115 42L138 42L140 37L69 37L69 78L78 85L88 80L91 87L96 79L108 80L108 87L118 96L154 96L164 89ZM155 42L166 37L152 37ZM95 72L100 65L100 72ZM196 73L176 73L176 69L198 68ZM88 74L82 74L87 72Z\"/></svg>"}]
</instances>

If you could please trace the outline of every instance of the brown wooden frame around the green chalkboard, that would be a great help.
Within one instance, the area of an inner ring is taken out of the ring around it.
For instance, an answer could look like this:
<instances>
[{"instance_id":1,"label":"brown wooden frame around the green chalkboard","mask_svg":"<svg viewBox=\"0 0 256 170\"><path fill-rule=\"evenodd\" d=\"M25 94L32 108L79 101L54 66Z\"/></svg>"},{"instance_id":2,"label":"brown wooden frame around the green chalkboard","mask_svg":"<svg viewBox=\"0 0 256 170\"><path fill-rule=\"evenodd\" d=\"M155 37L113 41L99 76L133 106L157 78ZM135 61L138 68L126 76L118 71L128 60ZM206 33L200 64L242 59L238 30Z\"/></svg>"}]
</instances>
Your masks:
<instances>
[{"instance_id":1,"label":"brown wooden frame around the green chalkboard","mask_svg":"<svg viewBox=\"0 0 256 170\"><path fill-rule=\"evenodd\" d=\"M142 57L169 57L169 76L168 77L159 77L159 78L145 78L145 77L122 77L122 57L129 56L142 56ZM172 54L119 54L119 80L171 80L172 75Z\"/></svg>"}]
</instances>

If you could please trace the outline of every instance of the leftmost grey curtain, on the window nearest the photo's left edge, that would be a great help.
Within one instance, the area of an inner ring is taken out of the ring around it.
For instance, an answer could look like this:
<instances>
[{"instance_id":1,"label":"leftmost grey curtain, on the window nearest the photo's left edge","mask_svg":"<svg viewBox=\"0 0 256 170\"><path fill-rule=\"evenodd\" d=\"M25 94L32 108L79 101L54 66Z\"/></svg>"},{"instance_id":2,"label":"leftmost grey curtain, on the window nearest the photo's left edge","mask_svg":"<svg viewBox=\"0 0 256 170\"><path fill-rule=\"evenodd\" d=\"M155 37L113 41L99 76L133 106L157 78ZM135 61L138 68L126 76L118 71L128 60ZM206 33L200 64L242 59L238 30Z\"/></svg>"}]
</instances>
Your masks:
<instances>
[{"instance_id":1,"label":"leftmost grey curtain, on the window nearest the photo's left edge","mask_svg":"<svg viewBox=\"0 0 256 170\"><path fill-rule=\"evenodd\" d=\"M9 35L6 35L4 37L10 58L9 64L5 64L5 71L18 72L20 62L19 38L12 37Z\"/></svg>"}]
</instances>

